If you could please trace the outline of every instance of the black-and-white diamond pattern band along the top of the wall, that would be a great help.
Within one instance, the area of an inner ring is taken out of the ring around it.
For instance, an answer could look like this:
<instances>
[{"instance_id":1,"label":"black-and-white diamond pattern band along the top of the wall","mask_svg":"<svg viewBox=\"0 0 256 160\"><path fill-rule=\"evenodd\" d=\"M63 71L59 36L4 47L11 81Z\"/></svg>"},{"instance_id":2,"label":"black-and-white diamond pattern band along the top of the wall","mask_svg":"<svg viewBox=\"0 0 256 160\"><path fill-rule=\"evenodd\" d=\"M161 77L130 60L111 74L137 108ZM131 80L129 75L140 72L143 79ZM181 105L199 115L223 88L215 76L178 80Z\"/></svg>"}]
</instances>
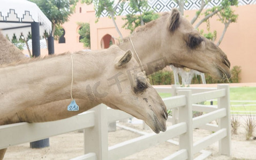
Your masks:
<instances>
[{"instance_id":1,"label":"black-and-white diamond pattern band along the top of the wall","mask_svg":"<svg viewBox=\"0 0 256 160\"><path fill-rule=\"evenodd\" d=\"M213 6L217 6L221 3L222 0L212 0L210 1L205 8L209 9ZM184 4L184 10L198 10L200 9L201 0L187 0ZM256 0L238 0L238 5L249 5L256 4ZM177 8L178 4L174 0L148 0L148 5L150 6L149 10L153 10L154 12L169 12L172 8ZM124 4L124 10L121 12L121 6L117 7L117 14L126 15L131 13L131 8L129 3L126 2ZM104 11L101 14L101 17L107 17L108 13Z\"/></svg>"}]
</instances>

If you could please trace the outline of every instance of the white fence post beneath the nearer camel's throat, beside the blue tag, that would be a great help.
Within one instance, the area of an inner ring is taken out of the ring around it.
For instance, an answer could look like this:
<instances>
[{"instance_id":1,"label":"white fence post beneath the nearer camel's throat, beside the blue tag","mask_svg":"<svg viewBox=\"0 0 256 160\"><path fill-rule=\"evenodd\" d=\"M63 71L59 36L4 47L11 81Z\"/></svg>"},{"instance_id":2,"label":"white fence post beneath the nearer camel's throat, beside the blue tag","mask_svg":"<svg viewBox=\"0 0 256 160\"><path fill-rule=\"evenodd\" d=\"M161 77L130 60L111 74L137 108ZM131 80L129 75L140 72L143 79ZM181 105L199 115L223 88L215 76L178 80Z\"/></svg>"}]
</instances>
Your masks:
<instances>
[{"instance_id":1,"label":"white fence post beneath the nearer camel's throat, beside the blue tag","mask_svg":"<svg viewBox=\"0 0 256 160\"><path fill-rule=\"evenodd\" d=\"M84 130L85 154L95 153L97 160L106 160L108 157L107 106L101 104L92 110L95 110L95 126Z\"/></svg>"}]
</instances>

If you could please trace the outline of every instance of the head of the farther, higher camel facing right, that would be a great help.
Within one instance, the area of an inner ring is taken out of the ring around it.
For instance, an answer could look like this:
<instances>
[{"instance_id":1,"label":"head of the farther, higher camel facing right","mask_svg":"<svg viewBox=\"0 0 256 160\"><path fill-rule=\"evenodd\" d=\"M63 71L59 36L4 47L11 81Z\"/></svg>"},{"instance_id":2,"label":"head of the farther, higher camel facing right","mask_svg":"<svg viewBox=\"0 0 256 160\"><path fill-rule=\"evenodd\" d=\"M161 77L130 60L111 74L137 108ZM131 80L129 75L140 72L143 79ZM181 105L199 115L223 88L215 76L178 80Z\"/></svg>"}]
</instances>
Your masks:
<instances>
[{"instance_id":1,"label":"head of the farther, higher camel facing right","mask_svg":"<svg viewBox=\"0 0 256 160\"><path fill-rule=\"evenodd\" d=\"M230 78L227 55L212 41L200 35L177 9L165 13L165 29L161 34L163 57L168 64L187 67L216 78Z\"/></svg>"}]
</instances>

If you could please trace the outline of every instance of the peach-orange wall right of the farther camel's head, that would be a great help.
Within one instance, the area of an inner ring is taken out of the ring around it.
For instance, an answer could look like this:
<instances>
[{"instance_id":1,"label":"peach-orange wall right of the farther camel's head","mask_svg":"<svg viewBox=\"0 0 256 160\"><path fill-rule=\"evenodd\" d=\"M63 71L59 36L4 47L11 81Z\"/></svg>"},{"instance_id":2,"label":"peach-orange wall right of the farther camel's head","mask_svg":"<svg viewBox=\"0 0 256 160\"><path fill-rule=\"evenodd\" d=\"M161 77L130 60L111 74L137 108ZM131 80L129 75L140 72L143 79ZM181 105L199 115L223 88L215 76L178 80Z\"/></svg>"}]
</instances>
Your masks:
<instances>
[{"instance_id":1,"label":"peach-orange wall right of the farther camel's head","mask_svg":"<svg viewBox=\"0 0 256 160\"><path fill-rule=\"evenodd\" d=\"M241 66L241 82L256 82L256 5L242 5L233 9L238 14L238 20L229 25L220 48L228 55L231 68ZM194 13L195 11L185 11L184 15L190 20ZM202 28L206 30L206 24L199 26L199 29ZM219 39L224 25L217 17L213 17L210 28L217 30Z\"/></svg>"}]
</instances>

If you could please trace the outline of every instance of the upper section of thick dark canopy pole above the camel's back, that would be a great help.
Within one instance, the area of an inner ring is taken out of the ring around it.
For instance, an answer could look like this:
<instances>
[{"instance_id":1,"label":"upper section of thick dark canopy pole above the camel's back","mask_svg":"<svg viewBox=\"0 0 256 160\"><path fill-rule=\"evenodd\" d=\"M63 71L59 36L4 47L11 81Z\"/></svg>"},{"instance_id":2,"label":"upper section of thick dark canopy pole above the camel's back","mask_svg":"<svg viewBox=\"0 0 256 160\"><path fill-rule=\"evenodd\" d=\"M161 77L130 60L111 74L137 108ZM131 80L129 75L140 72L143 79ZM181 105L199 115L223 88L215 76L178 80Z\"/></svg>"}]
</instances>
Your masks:
<instances>
[{"instance_id":1,"label":"upper section of thick dark canopy pole above the camel's back","mask_svg":"<svg viewBox=\"0 0 256 160\"><path fill-rule=\"evenodd\" d=\"M31 23L31 35L32 35L32 56L40 56L40 29L39 22Z\"/></svg>"}]
</instances>

